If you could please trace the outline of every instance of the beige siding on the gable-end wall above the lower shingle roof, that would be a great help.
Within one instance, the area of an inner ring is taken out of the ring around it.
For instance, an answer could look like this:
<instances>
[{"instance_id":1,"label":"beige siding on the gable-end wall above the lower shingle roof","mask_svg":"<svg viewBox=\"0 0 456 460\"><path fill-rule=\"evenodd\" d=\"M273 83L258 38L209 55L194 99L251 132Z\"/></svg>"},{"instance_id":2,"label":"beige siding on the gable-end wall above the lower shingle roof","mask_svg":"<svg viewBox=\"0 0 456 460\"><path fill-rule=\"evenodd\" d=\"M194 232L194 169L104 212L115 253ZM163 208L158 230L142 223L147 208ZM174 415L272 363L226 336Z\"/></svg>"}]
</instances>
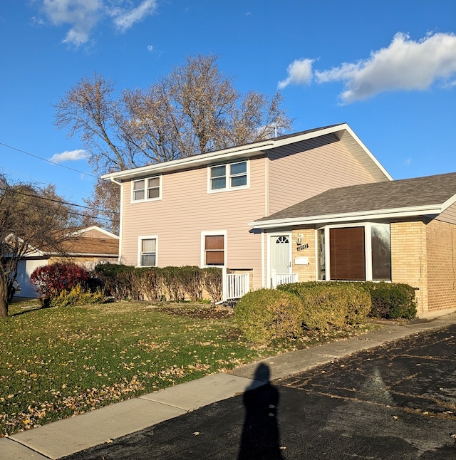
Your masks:
<instances>
[{"instance_id":1,"label":"beige siding on the gable-end wall above the lower shingle roof","mask_svg":"<svg viewBox=\"0 0 456 460\"><path fill-rule=\"evenodd\" d=\"M336 135L271 149L269 210L286 207L335 187L376 182Z\"/></svg>"}]
</instances>

